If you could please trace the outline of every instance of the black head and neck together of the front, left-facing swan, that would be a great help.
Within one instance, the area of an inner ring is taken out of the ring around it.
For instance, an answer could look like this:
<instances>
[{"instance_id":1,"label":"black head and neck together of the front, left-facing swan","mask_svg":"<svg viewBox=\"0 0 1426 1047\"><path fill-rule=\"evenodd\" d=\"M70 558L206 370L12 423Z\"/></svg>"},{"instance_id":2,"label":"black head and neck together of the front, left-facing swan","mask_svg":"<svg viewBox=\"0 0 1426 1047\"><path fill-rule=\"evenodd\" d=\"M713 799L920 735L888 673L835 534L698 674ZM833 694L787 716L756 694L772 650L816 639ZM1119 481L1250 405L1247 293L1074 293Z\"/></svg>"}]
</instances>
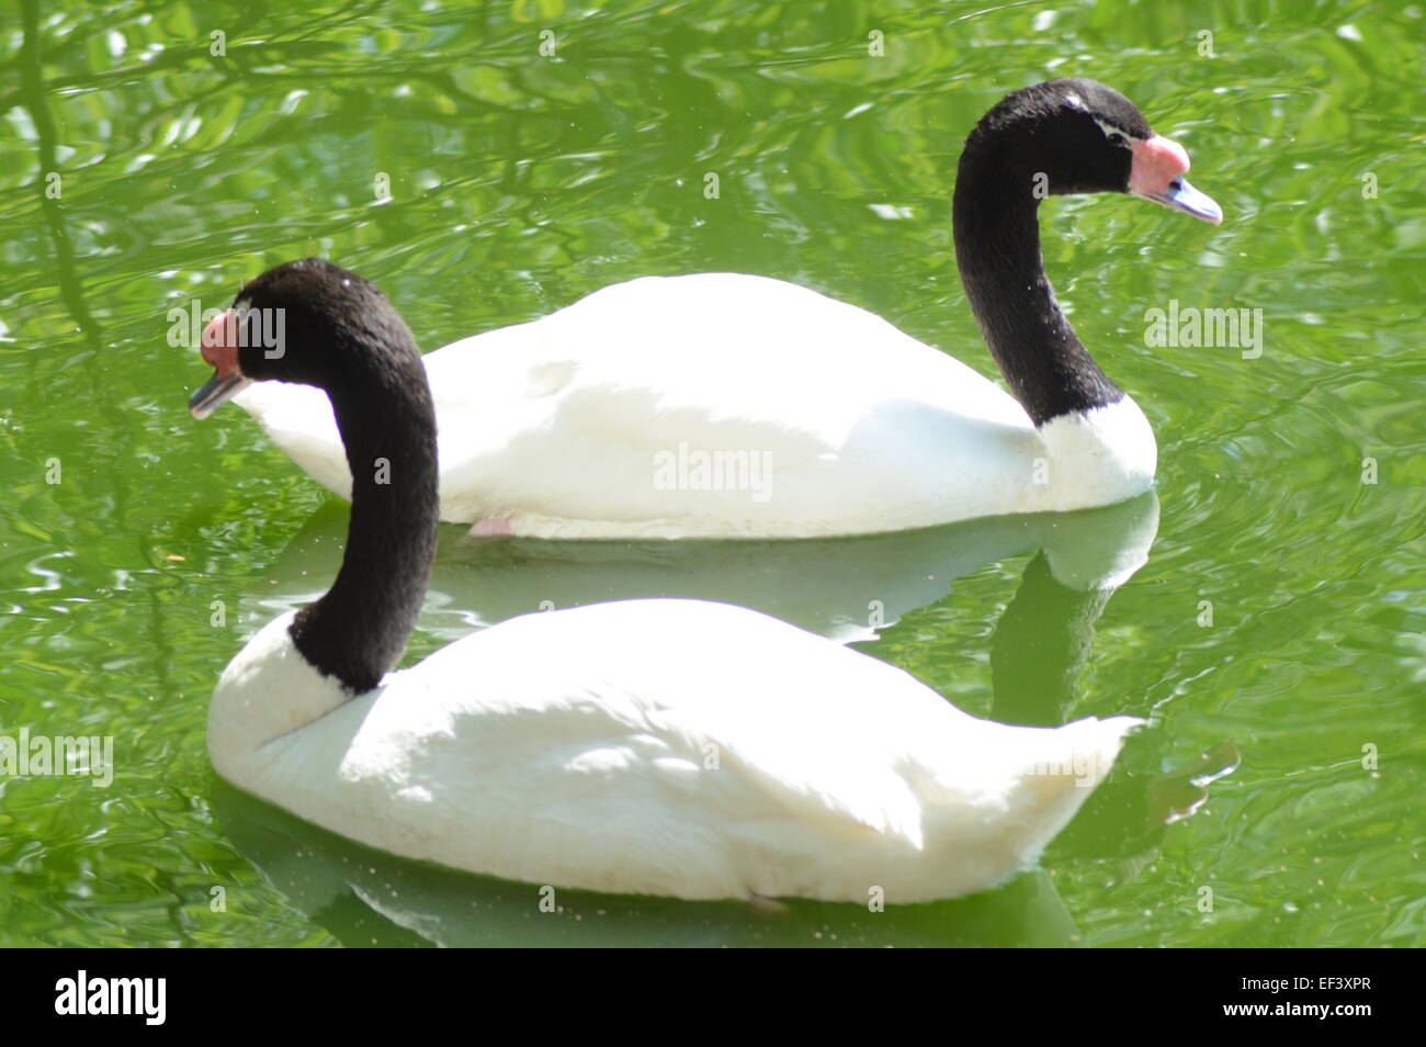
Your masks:
<instances>
[{"instance_id":1,"label":"black head and neck together of the front, left-facing swan","mask_svg":"<svg viewBox=\"0 0 1426 1047\"><path fill-rule=\"evenodd\" d=\"M331 591L289 633L351 693L375 688L421 611L439 516L435 411L411 331L371 282L304 258L238 291L204 330L202 358L214 377L188 401L198 418L251 381L328 394L351 474L347 552Z\"/></svg>"}]
</instances>

